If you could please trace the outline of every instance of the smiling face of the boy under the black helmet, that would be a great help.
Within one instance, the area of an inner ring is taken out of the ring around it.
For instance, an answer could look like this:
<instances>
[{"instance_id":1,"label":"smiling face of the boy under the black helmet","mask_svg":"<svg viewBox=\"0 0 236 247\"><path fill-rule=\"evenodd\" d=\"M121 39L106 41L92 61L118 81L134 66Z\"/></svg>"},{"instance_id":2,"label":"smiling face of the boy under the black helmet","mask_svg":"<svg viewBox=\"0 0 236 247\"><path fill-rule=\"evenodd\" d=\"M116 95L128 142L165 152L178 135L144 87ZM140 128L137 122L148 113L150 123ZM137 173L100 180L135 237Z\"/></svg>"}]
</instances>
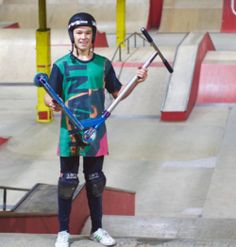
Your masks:
<instances>
[{"instance_id":1,"label":"smiling face of the boy under the black helmet","mask_svg":"<svg viewBox=\"0 0 236 247\"><path fill-rule=\"evenodd\" d=\"M93 30L91 27L81 26L73 31L75 46L81 51L90 50L92 47Z\"/></svg>"}]
</instances>

